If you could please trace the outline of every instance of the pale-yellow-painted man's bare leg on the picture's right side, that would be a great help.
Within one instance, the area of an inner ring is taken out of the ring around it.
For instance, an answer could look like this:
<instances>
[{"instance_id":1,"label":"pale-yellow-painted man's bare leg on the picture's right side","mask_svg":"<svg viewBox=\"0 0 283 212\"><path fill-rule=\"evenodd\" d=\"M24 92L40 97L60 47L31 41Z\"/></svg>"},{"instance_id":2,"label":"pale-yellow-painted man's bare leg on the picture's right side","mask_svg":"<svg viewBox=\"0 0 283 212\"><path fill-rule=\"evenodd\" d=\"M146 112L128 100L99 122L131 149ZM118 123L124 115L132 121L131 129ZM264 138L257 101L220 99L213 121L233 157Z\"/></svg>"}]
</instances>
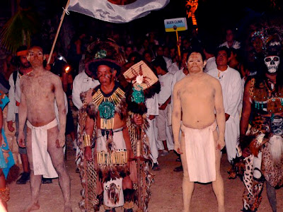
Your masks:
<instances>
[{"instance_id":1,"label":"pale-yellow-painted man's bare leg on the picture's right side","mask_svg":"<svg viewBox=\"0 0 283 212\"><path fill-rule=\"evenodd\" d=\"M217 131L214 131L214 141L217 141ZM220 174L220 160L221 151L215 150L215 169L216 169L216 180L212 182L212 188L218 202L218 211L224 212L224 182Z\"/></svg>"}]
</instances>

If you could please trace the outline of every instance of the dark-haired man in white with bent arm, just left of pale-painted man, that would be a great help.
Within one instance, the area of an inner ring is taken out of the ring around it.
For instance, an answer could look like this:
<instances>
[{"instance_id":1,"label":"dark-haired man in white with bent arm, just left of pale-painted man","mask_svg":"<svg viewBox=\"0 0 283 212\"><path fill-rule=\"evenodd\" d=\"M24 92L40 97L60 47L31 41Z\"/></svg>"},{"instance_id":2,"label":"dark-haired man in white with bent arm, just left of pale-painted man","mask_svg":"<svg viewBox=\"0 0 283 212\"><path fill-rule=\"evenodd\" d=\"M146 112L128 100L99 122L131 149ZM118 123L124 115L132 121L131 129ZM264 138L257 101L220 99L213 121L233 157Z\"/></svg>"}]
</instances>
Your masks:
<instances>
[{"instance_id":1,"label":"dark-haired man in white with bent arm, just left of pale-painted man","mask_svg":"<svg viewBox=\"0 0 283 212\"><path fill-rule=\"evenodd\" d=\"M156 57L152 61L154 69L158 75L161 84L161 91L158 93L159 111L156 117L156 126L158 129L157 147L160 150L160 155L168 155L168 151L173 150L174 143L172 139L171 124L168 123L169 104L171 102L173 73L167 71L166 61L162 56ZM162 142L162 143L161 143Z\"/></svg>"}]
</instances>

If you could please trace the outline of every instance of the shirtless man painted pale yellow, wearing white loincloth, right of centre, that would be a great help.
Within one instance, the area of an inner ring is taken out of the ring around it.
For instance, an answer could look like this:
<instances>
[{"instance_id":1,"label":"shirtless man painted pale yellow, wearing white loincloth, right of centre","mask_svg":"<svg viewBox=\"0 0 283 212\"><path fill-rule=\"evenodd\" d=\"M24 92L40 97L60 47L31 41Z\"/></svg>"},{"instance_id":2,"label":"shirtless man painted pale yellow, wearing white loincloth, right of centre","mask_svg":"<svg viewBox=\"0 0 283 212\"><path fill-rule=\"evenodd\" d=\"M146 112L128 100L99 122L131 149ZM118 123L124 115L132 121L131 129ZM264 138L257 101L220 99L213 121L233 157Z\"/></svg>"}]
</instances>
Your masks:
<instances>
[{"instance_id":1,"label":"shirtless man painted pale yellow, wearing white loincloth, right of centre","mask_svg":"<svg viewBox=\"0 0 283 212\"><path fill-rule=\"evenodd\" d=\"M202 54L192 52L187 60L190 75L176 83L173 90L174 149L180 153L183 163L185 212L190 211L194 182L212 182L218 201L218 211L225 210L224 184L220 174L220 151L225 145L225 112L222 91L219 81L203 72L204 65ZM216 121L219 134L216 131ZM179 141L180 129L182 136ZM197 149L203 151L200 152Z\"/></svg>"}]
</instances>

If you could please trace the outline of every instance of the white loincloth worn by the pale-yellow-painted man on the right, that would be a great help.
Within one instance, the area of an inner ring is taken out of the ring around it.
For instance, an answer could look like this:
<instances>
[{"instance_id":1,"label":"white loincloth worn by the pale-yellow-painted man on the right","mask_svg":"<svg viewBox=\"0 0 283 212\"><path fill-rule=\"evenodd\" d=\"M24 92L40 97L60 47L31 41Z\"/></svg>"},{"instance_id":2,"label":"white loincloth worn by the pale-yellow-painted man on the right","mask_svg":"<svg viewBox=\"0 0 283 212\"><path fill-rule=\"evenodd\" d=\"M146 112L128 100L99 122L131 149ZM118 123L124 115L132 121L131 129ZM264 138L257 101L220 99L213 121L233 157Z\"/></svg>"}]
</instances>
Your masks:
<instances>
[{"instance_id":1,"label":"white loincloth worn by the pale-yellow-painted man on the right","mask_svg":"<svg viewBox=\"0 0 283 212\"><path fill-rule=\"evenodd\" d=\"M216 122L204 129L192 129L182 124L185 134L185 154L190 182L212 182L216 180L215 142L213 131Z\"/></svg>"}]
</instances>

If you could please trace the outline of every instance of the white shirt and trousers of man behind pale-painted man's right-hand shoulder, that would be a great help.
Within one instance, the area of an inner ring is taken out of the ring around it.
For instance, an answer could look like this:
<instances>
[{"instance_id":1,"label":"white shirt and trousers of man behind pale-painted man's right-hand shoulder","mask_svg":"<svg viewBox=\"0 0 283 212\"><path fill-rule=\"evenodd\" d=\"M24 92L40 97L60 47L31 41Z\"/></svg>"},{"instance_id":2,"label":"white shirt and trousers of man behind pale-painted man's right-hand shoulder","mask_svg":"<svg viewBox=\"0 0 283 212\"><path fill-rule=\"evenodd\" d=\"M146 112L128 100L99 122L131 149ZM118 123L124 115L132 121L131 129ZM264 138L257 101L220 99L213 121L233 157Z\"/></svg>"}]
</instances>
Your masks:
<instances>
[{"instance_id":1,"label":"white shirt and trousers of man behind pale-painted man's right-hand shoulder","mask_svg":"<svg viewBox=\"0 0 283 212\"><path fill-rule=\"evenodd\" d=\"M228 66L226 71L212 69L207 72L214 78L219 79L223 94L224 110L230 117L225 125L225 144L229 162L236 157L236 144L240 136L240 114L238 106L243 93L241 76L238 71Z\"/></svg>"}]
</instances>

